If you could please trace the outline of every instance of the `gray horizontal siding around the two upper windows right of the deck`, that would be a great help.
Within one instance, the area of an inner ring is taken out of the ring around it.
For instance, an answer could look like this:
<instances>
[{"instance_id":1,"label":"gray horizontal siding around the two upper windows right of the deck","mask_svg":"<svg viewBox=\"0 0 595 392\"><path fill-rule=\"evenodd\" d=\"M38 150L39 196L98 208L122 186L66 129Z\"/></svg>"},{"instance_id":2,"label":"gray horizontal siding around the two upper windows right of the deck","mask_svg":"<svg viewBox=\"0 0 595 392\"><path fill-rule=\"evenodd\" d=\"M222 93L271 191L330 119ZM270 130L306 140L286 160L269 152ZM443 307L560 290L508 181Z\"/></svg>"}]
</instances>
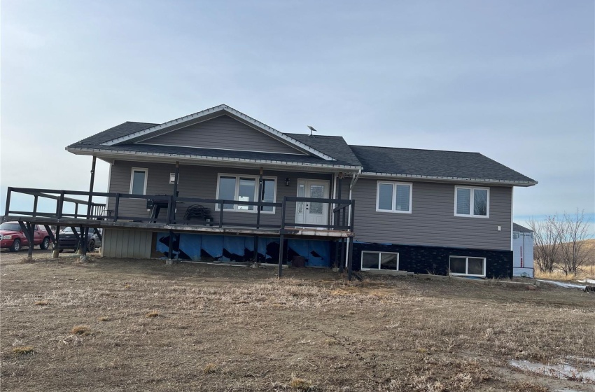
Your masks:
<instances>
[{"instance_id":1,"label":"gray horizontal siding around the two upper windows right of the deck","mask_svg":"<svg viewBox=\"0 0 595 392\"><path fill-rule=\"evenodd\" d=\"M398 214L377 212L377 180L359 179L353 188L355 240L510 250L512 188L490 187L489 218L471 218L454 216L456 184L412 184L412 214Z\"/></svg>"}]
</instances>

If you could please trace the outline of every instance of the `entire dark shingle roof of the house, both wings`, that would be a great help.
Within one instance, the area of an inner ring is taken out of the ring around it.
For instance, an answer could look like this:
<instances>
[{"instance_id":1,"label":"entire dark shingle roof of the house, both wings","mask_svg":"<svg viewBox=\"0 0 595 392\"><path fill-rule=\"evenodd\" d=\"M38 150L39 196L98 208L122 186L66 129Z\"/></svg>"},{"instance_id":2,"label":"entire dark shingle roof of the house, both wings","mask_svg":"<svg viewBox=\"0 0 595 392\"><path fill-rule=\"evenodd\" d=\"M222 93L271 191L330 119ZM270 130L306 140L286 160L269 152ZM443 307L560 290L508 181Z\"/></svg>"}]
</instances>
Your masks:
<instances>
[{"instance_id":1,"label":"entire dark shingle roof of the house, both wings","mask_svg":"<svg viewBox=\"0 0 595 392\"><path fill-rule=\"evenodd\" d=\"M154 127L154 123L126 122L116 127L99 132L91 137L71 144L69 148L97 148L106 141L124 137L134 132ZM346 165L363 167L367 173L388 173L405 176L447 177L456 179L521 181L536 183L533 179L515 172L495 160L479 153L458 151L418 150L413 148L393 148L375 146L350 146L342 137L309 136L307 134L288 133L296 139L321 153L335 158L328 161L311 155L291 155L260 153L255 151L226 151L210 148L190 148L174 146L149 146L143 144L123 144L101 146L104 151L127 153L161 153L172 155L209 156L214 158L265 160L274 162L295 162L298 164Z\"/></svg>"}]
</instances>

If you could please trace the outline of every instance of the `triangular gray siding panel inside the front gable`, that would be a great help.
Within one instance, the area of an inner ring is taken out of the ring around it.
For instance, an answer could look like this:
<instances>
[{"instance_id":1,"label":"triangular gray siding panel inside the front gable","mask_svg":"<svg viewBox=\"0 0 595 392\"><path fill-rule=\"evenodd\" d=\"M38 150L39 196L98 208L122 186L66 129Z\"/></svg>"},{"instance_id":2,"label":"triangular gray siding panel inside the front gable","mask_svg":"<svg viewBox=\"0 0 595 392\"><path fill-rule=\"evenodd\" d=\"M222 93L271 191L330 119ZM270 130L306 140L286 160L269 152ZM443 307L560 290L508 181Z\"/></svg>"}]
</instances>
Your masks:
<instances>
[{"instance_id":1,"label":"triangular gray siding panel inside the front gable","mask_svg":"<svg viewBox=\"0 0 595 392\"><path fill-rule=\"evenodd\" d=\"M141 142L162 146L223 148L225 150L303 154L229 116L221 116Z\"/></svg>"}]
</instances>

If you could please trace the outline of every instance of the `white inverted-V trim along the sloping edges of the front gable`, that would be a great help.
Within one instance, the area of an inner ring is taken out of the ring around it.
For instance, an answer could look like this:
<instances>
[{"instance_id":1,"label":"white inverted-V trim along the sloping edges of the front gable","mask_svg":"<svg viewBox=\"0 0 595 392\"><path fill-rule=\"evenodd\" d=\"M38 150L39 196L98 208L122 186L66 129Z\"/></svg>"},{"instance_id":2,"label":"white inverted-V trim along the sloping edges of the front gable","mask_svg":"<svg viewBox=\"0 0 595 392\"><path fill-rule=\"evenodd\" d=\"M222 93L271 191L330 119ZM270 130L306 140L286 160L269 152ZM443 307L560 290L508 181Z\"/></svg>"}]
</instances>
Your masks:
<instances>
[{"instance_id":1,"label":"white inverted-V trim along the sloping edges of the front gable","mask_svg":"<svg viewBox=\"0 0 595 392\"><path fill-rule=\"evenodd\" d=\"M316 148L312 148L311 146L307 146L306 144L303 144L302 142L297 141L296 139L293 139L292 137L289 137L286 134L283 134L283 132L279 132L278 130L269 127L268 125L260 123L260 121L246 116L244 113L241 113L240 111L237 111L227 105L214 106L213 108L206 109L204 111L190 114L181 118L176 118L175 120L168 121L167 123L154 125L153 127L149 127L144 130L138 130L136 132L132 132L131 134L123 135L120 137L114 137L113 139L104 141L102 145L114 146L116 144L139 143L146 141L147 139L158 137L162 134L167 134L168 132L172 132L174 130L180 130L181 128L188 127L189 125L202 123L206 120L210 120L212 118L216 118L222 115L227 115L231 118L234 118L235 120L238 120L241 123L253 127L255 130L267 134L269 137L289 144L293 148L302 151L303 153L315 155L318 158L323 158L324 160L335 160L335 158L332 158L330 155L322 153L321 151L318 151L316 150Z\"/></svg>"}]
</instances>

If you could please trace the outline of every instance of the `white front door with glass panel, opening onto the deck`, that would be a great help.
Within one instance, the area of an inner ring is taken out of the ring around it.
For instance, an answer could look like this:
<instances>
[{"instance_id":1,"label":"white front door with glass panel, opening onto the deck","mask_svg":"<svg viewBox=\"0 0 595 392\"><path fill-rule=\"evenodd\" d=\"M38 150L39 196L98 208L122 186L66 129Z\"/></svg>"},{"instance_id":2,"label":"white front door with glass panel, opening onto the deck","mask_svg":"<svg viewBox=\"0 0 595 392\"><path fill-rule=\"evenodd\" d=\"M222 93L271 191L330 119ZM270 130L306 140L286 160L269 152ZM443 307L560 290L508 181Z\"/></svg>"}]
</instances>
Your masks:
<instances>
[{"instance_id":1,"label":"white front door with glass panel, opening onto the deck","mask_svg":"<svg viewBox=\"0 0 595 392\"><path fill-rule=\"evenodd\" d=\"M297 197L315 197L328 199L329 181L297 180ZM328 203L295 203L295 223L307 225L328 224Z\"/></svg>"}]
</instances>

